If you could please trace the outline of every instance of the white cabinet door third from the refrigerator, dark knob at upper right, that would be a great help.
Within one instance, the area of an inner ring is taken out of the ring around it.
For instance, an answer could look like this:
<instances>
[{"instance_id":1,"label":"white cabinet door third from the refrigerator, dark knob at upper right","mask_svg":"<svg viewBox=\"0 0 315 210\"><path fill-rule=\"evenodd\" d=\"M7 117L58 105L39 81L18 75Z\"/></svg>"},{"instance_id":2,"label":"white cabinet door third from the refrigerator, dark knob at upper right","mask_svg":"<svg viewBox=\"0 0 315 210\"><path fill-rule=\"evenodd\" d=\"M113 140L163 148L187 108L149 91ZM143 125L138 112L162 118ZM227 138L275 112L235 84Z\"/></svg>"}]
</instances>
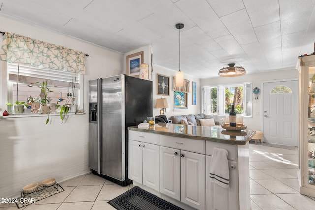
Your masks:
<instances>
[{"instance_id":1,"label":"white cabinet door third from the refrigerator, dark knob at upper right","mask_svg":"<svg viewBox=\"0 0 315 210\"><path fill-rule=\"evenodd\" d=\"M163 147L160 154L159 192L180 200L180 150Z\"/></svg>"}]
</instances>

